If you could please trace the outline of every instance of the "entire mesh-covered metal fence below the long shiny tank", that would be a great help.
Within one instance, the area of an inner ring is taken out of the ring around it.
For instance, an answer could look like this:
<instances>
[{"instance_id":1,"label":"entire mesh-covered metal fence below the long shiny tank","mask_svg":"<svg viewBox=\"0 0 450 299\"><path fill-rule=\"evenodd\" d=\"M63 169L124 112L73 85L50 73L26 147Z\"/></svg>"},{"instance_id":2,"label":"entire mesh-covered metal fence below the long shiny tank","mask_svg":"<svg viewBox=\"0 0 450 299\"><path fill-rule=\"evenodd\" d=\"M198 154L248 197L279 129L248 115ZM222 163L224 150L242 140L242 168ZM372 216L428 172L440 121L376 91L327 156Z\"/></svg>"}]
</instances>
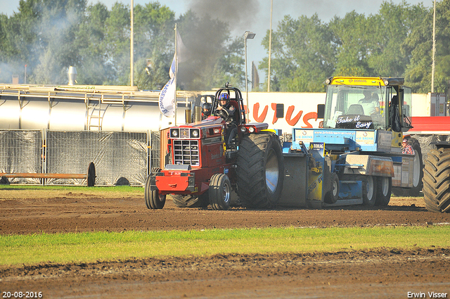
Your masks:
<instances>
[{"instance_id":1,"label":"entire mesh-covered metal fence below the long shiny tank","mask_svg":"<svg viewBox=\"0 0 450 299\"><path fill-rule=\"evenodd\" d=\"M0 172L79 174L94 162L96 185L140 186L150 167L159 165L159 148L159 132L0 130ZM86 179L9 178L9 182L79 185Z\"/></svg>"}]
</instances>

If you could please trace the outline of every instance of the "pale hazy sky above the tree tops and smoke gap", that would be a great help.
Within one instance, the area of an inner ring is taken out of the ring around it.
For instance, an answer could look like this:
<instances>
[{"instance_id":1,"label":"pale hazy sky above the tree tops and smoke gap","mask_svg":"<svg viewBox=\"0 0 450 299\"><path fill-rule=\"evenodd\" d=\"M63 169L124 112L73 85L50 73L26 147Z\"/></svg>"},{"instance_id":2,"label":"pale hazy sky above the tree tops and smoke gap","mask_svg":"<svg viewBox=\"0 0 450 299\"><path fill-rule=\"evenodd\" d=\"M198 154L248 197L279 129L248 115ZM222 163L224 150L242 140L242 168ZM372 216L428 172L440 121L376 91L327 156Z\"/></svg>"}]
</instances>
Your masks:
<instances>
[{"instance_id":1,"label":"pale hazy sky above the tree tops and smoke gap","mask_svg":"<svg viewBox=\"0 0 450 299\"><path fill-rule=\"evenodd\" d=\"M134 0L134 5L145 5L156 0ZM392 0L394 4L400 4L402 0ZM110 9L115 2L131 5L131 0L88 0L88 4L101 2ZM262 58L269 56L261 45L263 37L270 28L271 0L160 0L160 4L169 7L178 18L181 14L192 9L196 13L210 13L213 17L232 19L232 37L242 36L245 31L254 32L255 39L248 39L247 55L250 70L250 62L258 65ZM272 30L276 30L278 23L285 15L297 19L300 15L311 17L317 13L319 19L328 23L334 16L344 18L346 13L356 11L371 15L378 13L381 0L273 0ZM432 7L434 0L406 0L411 5L423 4ZM8 16L18 11L19 0L0 0L0 13Z\"/></svg>"}]
</instances>

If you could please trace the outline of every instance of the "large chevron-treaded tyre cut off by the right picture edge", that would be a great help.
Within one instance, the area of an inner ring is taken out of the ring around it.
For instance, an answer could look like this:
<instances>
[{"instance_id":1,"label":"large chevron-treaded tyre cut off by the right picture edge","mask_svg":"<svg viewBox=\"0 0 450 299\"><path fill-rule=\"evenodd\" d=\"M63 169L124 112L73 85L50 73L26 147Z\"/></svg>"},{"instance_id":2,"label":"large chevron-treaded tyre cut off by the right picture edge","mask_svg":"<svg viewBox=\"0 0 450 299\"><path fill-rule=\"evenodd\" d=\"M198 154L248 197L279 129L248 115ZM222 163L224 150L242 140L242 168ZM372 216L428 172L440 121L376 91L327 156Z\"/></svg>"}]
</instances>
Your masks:
<instances>
[{"instance_id":1,"label":"large chevron-treaded tyre cut off by the right picture edge","mask_svg":"<svg viewBox=\"0 0 450 299\"><path fill-rule=\"evenodd\" d=\"M423 198L430 212L450 212L450 148L432 149L425 160Z\"/></svg>"}]
</instances>

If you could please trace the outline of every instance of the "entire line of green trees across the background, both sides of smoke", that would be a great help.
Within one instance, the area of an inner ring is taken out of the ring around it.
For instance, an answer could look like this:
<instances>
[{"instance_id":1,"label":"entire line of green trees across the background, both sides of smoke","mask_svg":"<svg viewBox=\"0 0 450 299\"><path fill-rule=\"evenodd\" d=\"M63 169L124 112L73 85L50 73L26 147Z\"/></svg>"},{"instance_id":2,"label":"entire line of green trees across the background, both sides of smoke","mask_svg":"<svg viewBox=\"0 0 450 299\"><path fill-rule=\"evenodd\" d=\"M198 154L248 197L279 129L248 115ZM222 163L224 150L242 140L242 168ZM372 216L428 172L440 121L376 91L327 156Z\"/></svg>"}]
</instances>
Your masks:
<instances>
[{"instance_id":1,"label":"entire line of green trees across the background, both sides of smoke","mask_svg":"<svg viewBox=\"0 0 450 299\"><path fill-rule=\"evenodd\" d=\"M12 75L28 84L129 85L130 8L87 0L21 0L11 16L0 14L0 82ZM189 10L175 18L159 2L134 7L134 84L160 89L169 79L174 27L186 46L177 84L209 90L224 82L243 86L244 41L229 24ZM285 15L272 32L271 91L324 91L330 76L404 77L413 92L431 88L433 10L423 4L383 1L370 15L349 12L328 23L318 15ZM450 0L437 2L435 91L446 92L450 68ZM269 30L262 42L269 50ZM259 63L268 72L269 58ZM263 77L263 76L260 76ZM267 75L265 76L267 78ZM265 91L267 82L254 90Z\"/></svg>"}]
</instances>

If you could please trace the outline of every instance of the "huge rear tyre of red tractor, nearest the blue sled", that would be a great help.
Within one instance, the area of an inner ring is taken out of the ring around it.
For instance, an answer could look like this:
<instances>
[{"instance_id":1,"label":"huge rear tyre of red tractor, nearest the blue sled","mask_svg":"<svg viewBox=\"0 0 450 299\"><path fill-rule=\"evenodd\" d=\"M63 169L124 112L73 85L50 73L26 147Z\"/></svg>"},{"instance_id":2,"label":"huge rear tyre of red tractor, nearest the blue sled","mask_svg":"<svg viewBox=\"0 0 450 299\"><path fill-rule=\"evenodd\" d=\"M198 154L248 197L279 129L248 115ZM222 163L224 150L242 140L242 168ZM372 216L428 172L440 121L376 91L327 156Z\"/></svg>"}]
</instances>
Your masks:
<instances>
[{"instance_id":1,"label":"huge rear tyre of red tractor, nearest the blue sled","mask_svg":"<svg viewBox=\"0 0 450 299\"><path fill-rule=\"evenodd\" d=\"M283 189L284 163L276 134L249 134L240 141L236 161L238 196L247 208L268 209Z\"/></svg>"}]
</instances>

